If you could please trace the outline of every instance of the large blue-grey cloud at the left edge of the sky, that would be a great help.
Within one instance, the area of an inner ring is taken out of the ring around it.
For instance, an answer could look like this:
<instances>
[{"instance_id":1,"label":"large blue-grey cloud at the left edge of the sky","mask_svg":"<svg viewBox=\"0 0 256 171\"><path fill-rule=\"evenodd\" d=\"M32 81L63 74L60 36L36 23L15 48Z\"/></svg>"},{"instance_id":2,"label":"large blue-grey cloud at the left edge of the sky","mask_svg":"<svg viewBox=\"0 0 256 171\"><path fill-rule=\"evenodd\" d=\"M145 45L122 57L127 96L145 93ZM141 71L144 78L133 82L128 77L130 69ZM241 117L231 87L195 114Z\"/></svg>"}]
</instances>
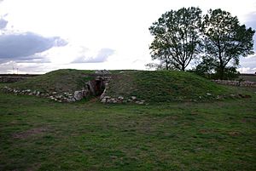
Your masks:
<instances>
[{"instance_id":1,"label":"large blue-grey cloud at the left edge of the sky","mask_svg":"<svg viewBox=\"0 0 256 171\"><path fill-rule=\"evenodd\" d=\"M0 35L0 62L38 60L36 55L49 48L67 45L61 37L42 37L32 32Z\"/></svg>"}]
</instances>

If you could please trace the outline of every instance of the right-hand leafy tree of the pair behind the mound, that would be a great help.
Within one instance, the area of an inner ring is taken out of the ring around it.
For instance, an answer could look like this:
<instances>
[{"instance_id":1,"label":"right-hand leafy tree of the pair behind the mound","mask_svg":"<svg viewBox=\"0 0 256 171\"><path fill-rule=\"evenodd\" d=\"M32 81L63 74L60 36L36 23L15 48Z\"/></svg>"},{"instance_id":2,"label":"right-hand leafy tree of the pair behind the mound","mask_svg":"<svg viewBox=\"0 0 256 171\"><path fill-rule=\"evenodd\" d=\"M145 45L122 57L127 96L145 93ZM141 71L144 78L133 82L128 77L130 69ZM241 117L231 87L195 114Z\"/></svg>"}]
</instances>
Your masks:
<instances>
[{"instance_id":1,"label":"right-hand leafy tree of the pair behind the mound","mask_svg":"<svg viewBox=\"0 0 256 171\"><path fill-rule=\"evenodd\" d=\"M253 54L255 31L239 24L237 17L221 9L210 9L204 16L202 31L205 36L205 50L209 60L214 61L220 79L230 62L239 65L239 57ZM234 67L231 67L232 70Z\"/></svg>"}]
</instances>

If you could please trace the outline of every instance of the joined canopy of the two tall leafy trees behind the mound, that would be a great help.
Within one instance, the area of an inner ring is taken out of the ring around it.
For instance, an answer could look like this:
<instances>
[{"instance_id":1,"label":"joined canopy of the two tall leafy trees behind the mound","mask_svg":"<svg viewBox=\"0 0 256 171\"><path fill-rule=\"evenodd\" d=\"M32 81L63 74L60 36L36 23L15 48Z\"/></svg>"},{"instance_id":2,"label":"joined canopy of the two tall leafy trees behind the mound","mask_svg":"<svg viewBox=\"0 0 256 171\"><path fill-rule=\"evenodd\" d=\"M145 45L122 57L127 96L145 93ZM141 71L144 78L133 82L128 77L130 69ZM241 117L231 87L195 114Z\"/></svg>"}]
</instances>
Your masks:
<instances>
[{"instance_id":1,"label":"joined canopy of the two tall leafy trees behind the mound","mask_svg":"<svg viewBox=\"0 0 256 171\"><path fill-rule=\"evenodd\" d=\"M160 60L166 70L184 71L191 60L201 58L201 71L218 73L234 70L239 58L253 54L251 27L240 25L237 17L222 9L210 9L201 17L201 9L190 7L171 10L149 27L154 36L151 57Z\"/></svg>"}]
</instances>

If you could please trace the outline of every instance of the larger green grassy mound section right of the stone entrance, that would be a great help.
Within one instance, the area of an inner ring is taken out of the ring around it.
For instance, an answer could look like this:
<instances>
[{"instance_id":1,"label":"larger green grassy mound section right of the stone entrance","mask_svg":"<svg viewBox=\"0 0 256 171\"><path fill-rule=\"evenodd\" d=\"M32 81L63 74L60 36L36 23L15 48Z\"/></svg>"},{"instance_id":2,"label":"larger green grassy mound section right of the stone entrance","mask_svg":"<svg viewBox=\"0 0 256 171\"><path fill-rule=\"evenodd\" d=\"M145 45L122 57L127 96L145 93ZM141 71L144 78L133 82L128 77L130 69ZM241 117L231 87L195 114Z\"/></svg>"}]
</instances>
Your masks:
<instances>
[{"instance_id":1,"label":"larger green grassy mound section right of the stone entrance","mask_svg":"<svg viewBox=\"0 0 256 171\"><path fill-rule=\"evenodd\" d=\"M183 71L125 71L115 74L107 94L151 102L206 100L230 89Z\"/></svg>"}]
</instances>

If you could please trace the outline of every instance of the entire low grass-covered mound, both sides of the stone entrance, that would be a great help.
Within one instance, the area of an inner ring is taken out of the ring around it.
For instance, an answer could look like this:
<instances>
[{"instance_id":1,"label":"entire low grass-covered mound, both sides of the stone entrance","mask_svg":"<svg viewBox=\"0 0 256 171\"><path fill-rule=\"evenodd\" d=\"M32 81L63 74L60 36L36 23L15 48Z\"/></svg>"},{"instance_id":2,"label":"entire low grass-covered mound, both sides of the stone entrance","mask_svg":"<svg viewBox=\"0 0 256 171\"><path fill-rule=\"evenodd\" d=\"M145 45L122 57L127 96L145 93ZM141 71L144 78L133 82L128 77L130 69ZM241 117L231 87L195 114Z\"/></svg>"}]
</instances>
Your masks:
<instances>
[{"instance_id":1,"label":"entire low grass-covered mound, both sides of the stone entrance","mask_svg":"<svg viewBox=\"0 0 256 171\"><path fill-rule=\"evenodd\" d=\"M147 102L209 100L217 95L230 94L230 88L183 71L111 71L107 89L111 97L126 100L136 96ZM93 79L94 71L57 70L42 76L10 83L10 88L39 90L40 92L73 93Z\"/></svg>"}]
</instances>

